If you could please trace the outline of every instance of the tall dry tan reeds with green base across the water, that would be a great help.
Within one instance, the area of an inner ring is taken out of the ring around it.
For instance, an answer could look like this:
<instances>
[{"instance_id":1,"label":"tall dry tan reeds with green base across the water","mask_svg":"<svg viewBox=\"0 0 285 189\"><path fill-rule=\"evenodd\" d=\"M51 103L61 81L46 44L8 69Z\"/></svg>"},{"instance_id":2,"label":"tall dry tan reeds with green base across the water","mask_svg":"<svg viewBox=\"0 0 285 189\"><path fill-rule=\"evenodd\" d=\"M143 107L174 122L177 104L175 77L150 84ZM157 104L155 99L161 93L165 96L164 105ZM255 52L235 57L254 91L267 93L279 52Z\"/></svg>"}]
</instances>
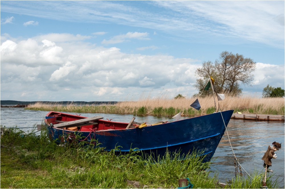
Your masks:
<instances>
[{"instance_id":1,"label":"tall dry tan reeds with green base across the water","mask_svg":"<svg viewBox=\"0 0 285 189\"><path fill-rule=\"evenodd\" d=\"M116 105L75 105L75 104L32 104L26 109L79 112L79 113L107 113L107 114L133 114L139 116L174 116L182 112L182 116L199 116L215 112L212 97L199 98L201 109L192 107L196 98L185 99L141 99L136 102L118 102ZM226 97L219 101L217 107L223 110L235 110L244 114L273 114L284 115L284 98L253 98L253 97Z\"/></svg>"}]
</instances>

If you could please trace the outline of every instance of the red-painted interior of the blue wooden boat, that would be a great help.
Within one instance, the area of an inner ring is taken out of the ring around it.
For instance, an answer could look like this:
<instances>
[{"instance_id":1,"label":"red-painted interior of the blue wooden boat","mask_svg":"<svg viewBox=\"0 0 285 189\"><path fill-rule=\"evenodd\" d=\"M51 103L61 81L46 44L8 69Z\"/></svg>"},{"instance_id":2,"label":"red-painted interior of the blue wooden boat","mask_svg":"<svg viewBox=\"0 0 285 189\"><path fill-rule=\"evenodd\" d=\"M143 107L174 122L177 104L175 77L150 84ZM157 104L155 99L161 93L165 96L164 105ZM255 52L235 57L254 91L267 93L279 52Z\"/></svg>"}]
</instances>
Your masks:
<instances>
[{"instance_id":1,"label":"red-painted interior of the blue wooden boat","mask_svg":"<svg viewBox=\"0 0 285 189\"><path fill-rule=\"evenodd\" d=\"M53 124L53 125L86 118L86 117L75 116L71 114L63 114L63 113L59 114L58 112L54 112L54 114L51 113L48 116L49 118L46 119L46 123ZM95 131L109 130L109 129L120 130L120 129L125 129L128 126L128 124L129 123L112 122L111 120L95 120L95 121L88 122L82 125L76 125L76 126L66 127L66 128L61 128L61 129L72 130L72 131L86 131L86 132L90 132L94 130ZM134 128L134 127L135 126L132 126L130 128Z\"/></svg>"}]
</instances>

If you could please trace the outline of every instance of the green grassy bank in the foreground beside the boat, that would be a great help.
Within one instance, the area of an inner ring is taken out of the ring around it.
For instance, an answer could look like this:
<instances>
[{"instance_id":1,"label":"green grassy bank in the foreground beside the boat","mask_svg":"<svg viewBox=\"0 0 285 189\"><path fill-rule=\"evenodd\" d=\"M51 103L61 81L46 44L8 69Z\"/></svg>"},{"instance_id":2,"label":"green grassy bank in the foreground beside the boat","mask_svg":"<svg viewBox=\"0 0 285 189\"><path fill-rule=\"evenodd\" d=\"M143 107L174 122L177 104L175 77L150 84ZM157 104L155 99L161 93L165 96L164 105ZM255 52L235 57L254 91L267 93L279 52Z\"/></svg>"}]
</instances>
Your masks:
<instances>
[{"instance_id":1,"label":"green grassy bank in the foreground beside the boat","mask_svg":"<svg viewBox=\"0 0 285 189\"><path fill-rule=\"evenodd\" d=\"M119 147L118 147L119 148ZM142 158L130 149L115 155L93 146L56 145L46 137L17 128L1 136L1 188L177 188L178 180L189 178L193 188L221 188L210 177L210 163L202 163L198 152L180 161L166 153L161 163ZM233 178L228 188L260 188L262 174ZM277 180L267 180L278 188Z\"/></svg>"}]
</instances>

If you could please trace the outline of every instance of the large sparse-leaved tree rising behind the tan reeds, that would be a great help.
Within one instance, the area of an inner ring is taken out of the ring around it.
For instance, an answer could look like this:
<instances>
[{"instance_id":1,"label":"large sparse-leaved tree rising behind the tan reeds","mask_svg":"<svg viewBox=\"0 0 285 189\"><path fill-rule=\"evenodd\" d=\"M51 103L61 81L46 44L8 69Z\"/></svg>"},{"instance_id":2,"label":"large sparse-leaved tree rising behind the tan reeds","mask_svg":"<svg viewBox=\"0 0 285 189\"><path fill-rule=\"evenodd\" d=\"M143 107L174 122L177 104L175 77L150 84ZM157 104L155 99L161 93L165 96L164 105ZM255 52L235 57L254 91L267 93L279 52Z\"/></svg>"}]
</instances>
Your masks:
<instances>
[{"instance_id":1,"label":"large sparse-leaved tree rising behind the tan reeds","mask_svg":"<svg viewBox=\"0 0 285 189\"><path fill-rule=\"evenodd\" d=\"M203 91L209 80L209 76L215 79L214 88L217 93L229 93L233 96L241 95L241 84L251 86L255 62L251 58L245 58L240 54L232 52L221 52L219 59L215 63L211 61L203 62L202 67L195 71L199 78L194 87ZM207 94L205 92L204 94Z\"/></svg>"}]
</instances>

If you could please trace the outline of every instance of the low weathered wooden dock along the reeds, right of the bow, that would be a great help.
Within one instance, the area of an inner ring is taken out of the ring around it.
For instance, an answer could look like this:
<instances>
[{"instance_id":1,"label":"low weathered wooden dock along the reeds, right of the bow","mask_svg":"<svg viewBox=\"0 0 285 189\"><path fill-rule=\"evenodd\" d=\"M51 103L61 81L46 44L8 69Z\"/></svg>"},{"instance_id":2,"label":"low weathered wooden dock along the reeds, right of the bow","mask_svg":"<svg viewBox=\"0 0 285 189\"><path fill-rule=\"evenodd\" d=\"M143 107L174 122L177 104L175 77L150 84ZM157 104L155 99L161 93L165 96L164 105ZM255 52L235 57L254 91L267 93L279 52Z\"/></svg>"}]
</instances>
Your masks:
<instances>
[{"instance_id":1,"label":"low weathered wooden dock along the reeds, right of the bow","mask_svg":"<svg viewBox=\"0 0 285 189\"><path fill-rule=\"evenodd\" d=\"M267 114L233 114L231 118L255 121L284 121L284 115Z\"/></svg>"}]
</instances>

